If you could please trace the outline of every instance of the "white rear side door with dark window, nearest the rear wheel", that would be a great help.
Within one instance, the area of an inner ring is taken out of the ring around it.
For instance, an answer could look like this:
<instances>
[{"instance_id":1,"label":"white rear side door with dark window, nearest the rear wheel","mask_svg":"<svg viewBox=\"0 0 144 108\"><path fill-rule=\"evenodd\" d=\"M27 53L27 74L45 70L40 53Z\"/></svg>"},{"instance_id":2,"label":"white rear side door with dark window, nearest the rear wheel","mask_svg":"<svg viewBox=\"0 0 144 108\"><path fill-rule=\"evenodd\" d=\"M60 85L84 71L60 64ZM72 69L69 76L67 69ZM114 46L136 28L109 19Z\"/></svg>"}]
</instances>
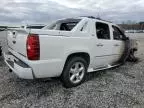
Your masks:
<instances>
[{"instance_id":1,"label":"white rear side door with dark window, nearest the rear wheel","mask_svg":"<svg viewBox=\"0 0 144 108\"><path fill-rule=\"evenodd\" d=\"M110 26L104 22L96 22L95 68L104 68L113 62L112 39Z\"/></svg>"}]
</instances>

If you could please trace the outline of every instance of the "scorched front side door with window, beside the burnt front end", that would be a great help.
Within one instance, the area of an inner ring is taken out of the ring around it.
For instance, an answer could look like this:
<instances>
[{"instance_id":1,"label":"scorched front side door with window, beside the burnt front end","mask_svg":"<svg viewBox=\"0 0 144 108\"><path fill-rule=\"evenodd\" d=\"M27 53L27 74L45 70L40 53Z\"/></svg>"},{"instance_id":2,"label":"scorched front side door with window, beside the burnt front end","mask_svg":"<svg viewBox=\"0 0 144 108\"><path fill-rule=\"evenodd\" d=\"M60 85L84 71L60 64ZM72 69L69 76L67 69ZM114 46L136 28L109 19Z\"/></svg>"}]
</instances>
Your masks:
<instances>
[{"instance_id":1,"label":"scorched front side door with window, beside the burnt front end","mask_svg":"<svg viewBox=\"0 0 144 108\"><path fill-rule=\"evenodd\" d=\"M115 58L115 62L118 61L125 49L125 35L122 31L117 27L112 25L112 33L113 33L113 58Z\"/></svg>"}]
</instances>

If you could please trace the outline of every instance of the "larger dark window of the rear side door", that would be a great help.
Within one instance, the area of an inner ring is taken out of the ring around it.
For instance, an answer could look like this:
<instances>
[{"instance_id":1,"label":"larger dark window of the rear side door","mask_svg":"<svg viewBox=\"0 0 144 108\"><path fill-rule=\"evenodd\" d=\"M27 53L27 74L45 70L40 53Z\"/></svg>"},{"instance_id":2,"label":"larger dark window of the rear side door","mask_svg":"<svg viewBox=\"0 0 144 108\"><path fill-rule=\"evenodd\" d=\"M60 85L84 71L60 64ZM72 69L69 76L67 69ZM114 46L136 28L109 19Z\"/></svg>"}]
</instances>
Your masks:
<instances>
[{"instance_id":1,"label":"larger dark window of the rear side door","mask_svg":"<svg viewBox=\"0 0 144 108\"><path fill-rule=\"evenodd\" d=\"M108 24L96 22L96 34L98 39L110 39Z\"/></svg>"}]
</instances>

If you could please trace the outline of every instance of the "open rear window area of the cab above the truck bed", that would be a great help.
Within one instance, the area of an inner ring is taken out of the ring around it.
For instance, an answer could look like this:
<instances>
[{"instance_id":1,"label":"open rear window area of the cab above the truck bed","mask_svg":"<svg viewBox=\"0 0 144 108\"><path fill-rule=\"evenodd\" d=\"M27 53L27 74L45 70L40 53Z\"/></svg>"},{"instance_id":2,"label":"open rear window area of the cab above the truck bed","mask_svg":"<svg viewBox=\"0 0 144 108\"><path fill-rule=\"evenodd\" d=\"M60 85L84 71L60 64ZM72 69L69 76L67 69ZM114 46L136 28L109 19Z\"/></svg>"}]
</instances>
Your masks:
<instances>
[{"instance_id":1,"label":"open rear window area of the cab above the truck bed","mask_svg":"<svg viewBox=\"0 0 144 108\"><path fill-rule=\"evenodd\" d=\"M58 20L43 29L71 31L80 22L80 20L81 19Z\"/></svg>"}]
</instances>

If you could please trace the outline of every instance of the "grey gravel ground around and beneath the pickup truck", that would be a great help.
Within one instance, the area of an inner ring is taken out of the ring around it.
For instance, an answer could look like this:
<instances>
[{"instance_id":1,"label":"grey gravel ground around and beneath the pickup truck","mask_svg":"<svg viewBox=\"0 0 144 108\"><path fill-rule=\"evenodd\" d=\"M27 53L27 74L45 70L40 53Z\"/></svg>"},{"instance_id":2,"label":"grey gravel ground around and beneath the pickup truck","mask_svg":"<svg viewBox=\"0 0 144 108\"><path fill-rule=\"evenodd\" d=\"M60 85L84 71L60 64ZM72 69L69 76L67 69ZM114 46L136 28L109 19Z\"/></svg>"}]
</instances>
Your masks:
<instances>
[{"instance_id":1,"label":"grey gravel ground around and beneath the pickup truck","mask_svg":"<svg viewBox=\"0 0 144 108\"><path fill-rule=\"evenodd\" d=\"M59 79L19 79L1 58L0 108L144 108L143 42L138 62L89 73L85 83L71 89Z\"/></svg>"}]
</instances>

